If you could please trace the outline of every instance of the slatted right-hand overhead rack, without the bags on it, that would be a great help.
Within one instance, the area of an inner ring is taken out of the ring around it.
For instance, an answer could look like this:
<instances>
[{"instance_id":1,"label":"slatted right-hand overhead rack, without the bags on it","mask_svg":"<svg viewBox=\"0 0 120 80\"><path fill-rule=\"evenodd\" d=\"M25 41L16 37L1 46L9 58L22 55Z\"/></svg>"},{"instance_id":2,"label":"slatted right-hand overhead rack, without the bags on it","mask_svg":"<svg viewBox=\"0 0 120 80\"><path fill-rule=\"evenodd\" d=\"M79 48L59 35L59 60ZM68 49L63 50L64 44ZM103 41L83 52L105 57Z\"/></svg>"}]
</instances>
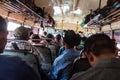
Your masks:
<instances>
[{"instance_id":1,"label":"slatted right-hand overhead rack, without the bags on it","mask_svg":"<svg viewBox=\"0 0 120 80\"><path fill-rule=\"evenodd\" d=\"M96 19L97 16L94 18ZM120 8L111 10L109 14L102 19L94 20L94 18L87 23L89 27L96 28L120 21Z\"/></svg>"}]
</instances>

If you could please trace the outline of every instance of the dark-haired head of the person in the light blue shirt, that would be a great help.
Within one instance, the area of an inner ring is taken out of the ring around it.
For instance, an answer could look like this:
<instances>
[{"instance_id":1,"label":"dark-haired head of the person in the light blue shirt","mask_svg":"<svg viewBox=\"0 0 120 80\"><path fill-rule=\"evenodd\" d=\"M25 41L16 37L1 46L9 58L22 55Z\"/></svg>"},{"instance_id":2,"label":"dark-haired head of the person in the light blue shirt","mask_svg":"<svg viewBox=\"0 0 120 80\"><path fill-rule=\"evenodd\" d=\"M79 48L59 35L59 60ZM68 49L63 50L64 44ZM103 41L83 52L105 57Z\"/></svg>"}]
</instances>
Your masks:
<instances>
[{"instance_id":1,"label":"dark-haired head of the person in the light blue shirt","mask_svg":"<svg viewBox=\"0 0 120 80\"><path fill-rule=\"evenodd\" d=\"M63 34L62 37L63 37L63 46L66 46L67 48L74 48L76 34L73 30L65 31L65 34Z\"/></svg>"}]
</instances>

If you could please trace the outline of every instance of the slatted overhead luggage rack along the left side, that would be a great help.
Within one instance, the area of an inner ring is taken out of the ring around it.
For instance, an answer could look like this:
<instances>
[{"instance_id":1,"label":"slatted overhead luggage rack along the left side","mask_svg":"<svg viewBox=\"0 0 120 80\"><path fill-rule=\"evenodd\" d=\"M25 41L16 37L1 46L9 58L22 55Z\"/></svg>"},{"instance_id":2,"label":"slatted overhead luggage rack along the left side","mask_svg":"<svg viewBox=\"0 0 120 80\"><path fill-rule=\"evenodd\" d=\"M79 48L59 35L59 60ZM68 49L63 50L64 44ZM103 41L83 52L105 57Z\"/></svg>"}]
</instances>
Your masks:
<instances>
[{"instance_id":1,"label":"slatted overhead luggage rack along the left side","mask_svg":"<svg viewBox=\"0 0 120 80\"><path fill-rule=\"evenodd\" d=\"M26 18L32 19L34 21L42 21L44 18L41 17L39 14L34 12L20 0L0 0L0 5L4 8L7 8L11 13L19 13L26 16Z\"/></svg>"}]
</instances>

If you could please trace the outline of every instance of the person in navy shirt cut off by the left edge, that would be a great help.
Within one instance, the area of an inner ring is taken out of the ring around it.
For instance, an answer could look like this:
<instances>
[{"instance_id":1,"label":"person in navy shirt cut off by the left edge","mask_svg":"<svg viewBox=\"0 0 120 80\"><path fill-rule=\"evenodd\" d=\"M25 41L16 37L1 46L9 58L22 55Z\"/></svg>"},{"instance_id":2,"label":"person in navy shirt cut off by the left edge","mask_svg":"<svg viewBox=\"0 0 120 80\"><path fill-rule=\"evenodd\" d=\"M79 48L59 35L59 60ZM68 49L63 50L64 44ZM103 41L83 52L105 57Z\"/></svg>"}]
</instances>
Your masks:
<instances>
[{"instance_id":1,"label":"person in navy shirt cut off by the left edge","mask_svg":"<svg viewBox=\"0 0 120 80\"><path fill-rule=\"evenodd\" d=\"M0 17L0 53L7 42L7 24ZM0 55L0 80L40 80L40 76L18 57Z\"/></svg>"}]
</instances>

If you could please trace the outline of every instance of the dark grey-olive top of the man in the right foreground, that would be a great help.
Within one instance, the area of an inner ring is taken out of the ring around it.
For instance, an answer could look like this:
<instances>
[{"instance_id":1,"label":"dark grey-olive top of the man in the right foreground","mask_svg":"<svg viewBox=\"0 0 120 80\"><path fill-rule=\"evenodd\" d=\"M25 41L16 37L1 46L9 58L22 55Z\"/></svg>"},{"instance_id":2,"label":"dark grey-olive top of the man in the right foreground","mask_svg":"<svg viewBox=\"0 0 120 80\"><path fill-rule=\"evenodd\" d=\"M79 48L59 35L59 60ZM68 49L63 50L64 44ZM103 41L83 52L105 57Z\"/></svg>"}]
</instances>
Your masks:
<instances>
[{"instance_id":1,"label":"dark grey-olive top of the man in the right foreground","mask_svg":"<svg viewBox=\"0 0 120 80\"><path fill-rule=\"evenodd\" d=\"M73 75L70 80L120 80L120 59L102 59L87 71Z\"/></svg>"}]
</instances>

